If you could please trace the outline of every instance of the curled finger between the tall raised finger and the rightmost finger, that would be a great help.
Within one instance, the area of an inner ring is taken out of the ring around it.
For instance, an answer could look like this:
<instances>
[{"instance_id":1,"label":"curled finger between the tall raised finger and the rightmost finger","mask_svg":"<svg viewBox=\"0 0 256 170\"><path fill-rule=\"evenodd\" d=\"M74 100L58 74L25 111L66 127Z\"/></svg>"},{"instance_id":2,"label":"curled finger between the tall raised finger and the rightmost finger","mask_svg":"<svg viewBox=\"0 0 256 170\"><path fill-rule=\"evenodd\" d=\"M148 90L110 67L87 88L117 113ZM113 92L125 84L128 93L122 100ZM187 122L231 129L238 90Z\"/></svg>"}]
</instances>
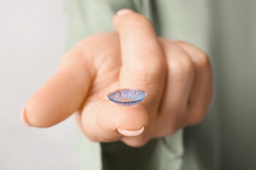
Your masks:
<instances>
[{"instance_id":1,"label":"curled finger between the tall raised finger and the rightmost finger","mask_svg":"<svg viewBox=\"0 0 256 170\"><path fill-rule=\"evenodd\" d=\"M171 134L176 130L176 125L181 125L188 109L188 97L191 93L195 76L195 66L191 57L176 43L161 38L164 52L166 54L167 75L164 87L164 96L161 102L160 113L162 118L169 121L169 128L162 128L157 135ZM169 130L165 132L164 130Z\"/></svg>"}]
</instances>

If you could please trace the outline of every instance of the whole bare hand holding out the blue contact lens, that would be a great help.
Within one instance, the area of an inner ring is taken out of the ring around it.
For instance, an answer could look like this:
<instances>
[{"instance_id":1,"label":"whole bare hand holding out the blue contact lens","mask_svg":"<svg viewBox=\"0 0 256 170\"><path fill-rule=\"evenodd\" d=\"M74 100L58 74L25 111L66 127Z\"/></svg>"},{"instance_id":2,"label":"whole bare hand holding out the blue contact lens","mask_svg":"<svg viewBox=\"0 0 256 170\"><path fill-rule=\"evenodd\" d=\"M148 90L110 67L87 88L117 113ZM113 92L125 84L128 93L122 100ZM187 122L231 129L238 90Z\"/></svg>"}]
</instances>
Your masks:
<instances>
[{"instance_id":1,"label":"whole bare hand holding out the blue contact lens","mask_svg":"<svg viewBox=\"0 0 256 170\"><path fill-rule=\"evenodd\" d=\"M23 108L26 125L48 128L74 113L90 140L141 147L203 120L213 94L208 56L187 42L158 38L134 11L119 11L113 23L117 33L92 35L63 56ZM130 107L108 100L108 92L123 88L148 95Z\"/></svg>"}]
</instances>

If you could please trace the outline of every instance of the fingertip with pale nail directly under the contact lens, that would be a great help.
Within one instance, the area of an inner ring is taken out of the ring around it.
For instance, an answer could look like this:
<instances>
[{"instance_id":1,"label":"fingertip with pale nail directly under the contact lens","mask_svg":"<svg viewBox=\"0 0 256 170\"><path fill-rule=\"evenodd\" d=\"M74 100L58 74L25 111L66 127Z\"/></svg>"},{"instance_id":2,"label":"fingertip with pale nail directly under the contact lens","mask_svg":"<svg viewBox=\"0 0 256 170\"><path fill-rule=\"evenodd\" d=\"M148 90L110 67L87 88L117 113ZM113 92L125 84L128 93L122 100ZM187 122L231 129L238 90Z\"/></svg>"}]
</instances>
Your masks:
<instances>
[{"instance_id":1,"label":"fingertip with pale nail directly under the contact lens","mask_svg":"<svg viewBox=\"0 0 256 170\"><path fill-rule=\"evenodd\" d=\"M146 109L136 106L122 107L114 103L107 103L99 114L100 125L113 135L137 136L144 132L149 124L149 114Z\"/></svg>"}]
</instances>

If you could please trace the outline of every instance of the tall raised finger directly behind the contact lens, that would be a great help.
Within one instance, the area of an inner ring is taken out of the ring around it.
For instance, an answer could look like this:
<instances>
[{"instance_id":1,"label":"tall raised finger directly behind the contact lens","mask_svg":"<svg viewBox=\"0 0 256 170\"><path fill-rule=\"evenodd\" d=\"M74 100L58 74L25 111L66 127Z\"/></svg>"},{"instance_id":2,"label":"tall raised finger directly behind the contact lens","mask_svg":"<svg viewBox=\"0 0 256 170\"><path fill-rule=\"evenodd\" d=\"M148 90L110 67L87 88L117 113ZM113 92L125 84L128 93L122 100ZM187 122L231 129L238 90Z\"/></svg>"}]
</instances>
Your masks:
<instances>
[{"instance_id":1,"label":"tall raised finger directly behind the contact lens","mask_svg":"<svg viewBox=\"0 0 256 170\"><path fill-rule=\"evenodd\" d=\"M164 53L149 19L134 11L119 13L114 16L114 26L122 49L120 87L146 91L142 105L149 113L156 112L164 88Z\"/></svg>"}]
</instances>

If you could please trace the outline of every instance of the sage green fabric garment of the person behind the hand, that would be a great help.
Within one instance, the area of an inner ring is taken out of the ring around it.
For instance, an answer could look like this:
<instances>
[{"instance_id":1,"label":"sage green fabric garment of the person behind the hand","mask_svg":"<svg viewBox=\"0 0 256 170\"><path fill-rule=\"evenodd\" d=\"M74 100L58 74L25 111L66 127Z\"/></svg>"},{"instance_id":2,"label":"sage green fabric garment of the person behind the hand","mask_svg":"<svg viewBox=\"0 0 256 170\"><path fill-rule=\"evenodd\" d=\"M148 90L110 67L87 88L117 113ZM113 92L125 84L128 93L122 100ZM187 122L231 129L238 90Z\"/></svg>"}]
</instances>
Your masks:
<instances>
[{"instance_id":1,"label":"sage green fabric garment of the person behind the hand","mask_svg":"<svg viewBox=\"0 0 256 170\"><path fill-rule=\"evenodd\" d=\"M203 123L142 148L80 137L82 169L256 169L256 1L67 2L69 47L87 35L114 31L114 13L132 8L151 20L157 35L207 52L214 74L213 101Z\"/></svg>"}]
</instances>

